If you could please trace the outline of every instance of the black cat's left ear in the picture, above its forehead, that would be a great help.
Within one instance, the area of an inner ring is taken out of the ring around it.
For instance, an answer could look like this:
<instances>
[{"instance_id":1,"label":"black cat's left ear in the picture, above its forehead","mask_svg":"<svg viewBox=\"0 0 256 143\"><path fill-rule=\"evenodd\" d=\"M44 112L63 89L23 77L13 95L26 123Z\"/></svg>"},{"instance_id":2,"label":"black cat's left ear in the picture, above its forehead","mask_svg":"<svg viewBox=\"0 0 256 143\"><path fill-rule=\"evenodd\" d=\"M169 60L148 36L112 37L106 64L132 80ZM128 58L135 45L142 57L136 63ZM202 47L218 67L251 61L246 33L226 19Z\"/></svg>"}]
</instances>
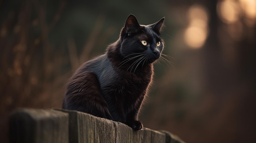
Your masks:
<instances>
[{"instance_id":1,"label":"black cat's left ear in the picture, above its forehead","mask_svg":"<svg viewBox=\"0 0 256 143\"><path fill-rule=\"evenodd\" d=\"M137 21L136 17L132 14L129 15L124 26L126 34L130 36L132 33L139 31L140 28L141 26L139 25L139 22Z\"/></svg>"}]
</instances>

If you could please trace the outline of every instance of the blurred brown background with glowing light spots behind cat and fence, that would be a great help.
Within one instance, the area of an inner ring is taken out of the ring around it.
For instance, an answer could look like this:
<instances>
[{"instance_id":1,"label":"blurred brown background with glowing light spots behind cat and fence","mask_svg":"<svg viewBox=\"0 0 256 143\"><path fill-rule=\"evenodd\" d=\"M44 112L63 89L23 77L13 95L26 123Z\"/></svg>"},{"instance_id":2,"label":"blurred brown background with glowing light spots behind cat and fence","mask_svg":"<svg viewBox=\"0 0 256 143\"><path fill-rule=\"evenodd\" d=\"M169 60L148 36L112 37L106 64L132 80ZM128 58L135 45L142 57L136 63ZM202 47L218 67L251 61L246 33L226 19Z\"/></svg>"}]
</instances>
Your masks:
<instances>
[{"instance_id":1,"label":"blurred brown background with glowing light spots behind cat and fence","mask_svg":"<svg viewBox=\"0 0 256 143\"><path fill-rule=\"evenodd\" d=\"M139 118L187 143L256 141L256 0L0 0L0 141L19 107L61 108L65 85L128 15L165 17L164 54Z\"/></svg>"}]
</instances>

